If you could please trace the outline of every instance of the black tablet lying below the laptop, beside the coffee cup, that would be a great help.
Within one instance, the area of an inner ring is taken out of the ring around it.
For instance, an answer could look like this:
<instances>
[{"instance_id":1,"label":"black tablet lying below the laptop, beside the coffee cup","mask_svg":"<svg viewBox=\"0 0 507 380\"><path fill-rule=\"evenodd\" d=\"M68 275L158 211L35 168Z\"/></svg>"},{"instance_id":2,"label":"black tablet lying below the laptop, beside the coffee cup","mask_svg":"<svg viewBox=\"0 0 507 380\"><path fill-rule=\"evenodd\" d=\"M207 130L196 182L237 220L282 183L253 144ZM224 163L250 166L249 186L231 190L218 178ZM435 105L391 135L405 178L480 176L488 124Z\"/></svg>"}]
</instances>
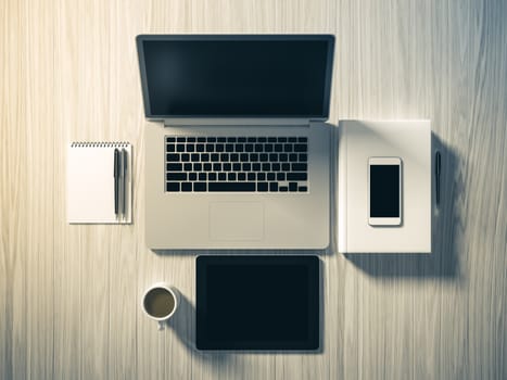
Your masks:
<instances>
[{"instance_id":1,"label":"black tablet lying below the laptop, beside the coffee cup","mask_svg":"<svg viewBox=\"0 0 507 380\"><path fill-rule=\"evenodd\" d=\"M199 350L317 350L317 256L199 256Z\"/></svg>"}]
</instances>

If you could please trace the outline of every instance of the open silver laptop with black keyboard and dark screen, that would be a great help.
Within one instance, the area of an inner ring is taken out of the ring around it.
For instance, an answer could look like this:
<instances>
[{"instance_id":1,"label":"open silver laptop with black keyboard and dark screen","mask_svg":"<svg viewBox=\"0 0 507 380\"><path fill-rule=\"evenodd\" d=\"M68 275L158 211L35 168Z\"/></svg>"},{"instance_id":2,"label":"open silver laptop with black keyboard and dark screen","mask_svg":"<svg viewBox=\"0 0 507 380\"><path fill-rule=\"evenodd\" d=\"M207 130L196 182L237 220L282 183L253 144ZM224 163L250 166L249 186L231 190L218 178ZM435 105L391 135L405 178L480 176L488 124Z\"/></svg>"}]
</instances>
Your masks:
<instances>
[{"instance_id":1,"label":"open silver laptop with black keyboard and dark screen","mask_svg":"<svg viewBox=\"0 0 507 380\"><path fill-rule=\"evenodd\" d=\"M334 37L141 35L152 250L325 249Z\"/></svg>"}]
</instances>

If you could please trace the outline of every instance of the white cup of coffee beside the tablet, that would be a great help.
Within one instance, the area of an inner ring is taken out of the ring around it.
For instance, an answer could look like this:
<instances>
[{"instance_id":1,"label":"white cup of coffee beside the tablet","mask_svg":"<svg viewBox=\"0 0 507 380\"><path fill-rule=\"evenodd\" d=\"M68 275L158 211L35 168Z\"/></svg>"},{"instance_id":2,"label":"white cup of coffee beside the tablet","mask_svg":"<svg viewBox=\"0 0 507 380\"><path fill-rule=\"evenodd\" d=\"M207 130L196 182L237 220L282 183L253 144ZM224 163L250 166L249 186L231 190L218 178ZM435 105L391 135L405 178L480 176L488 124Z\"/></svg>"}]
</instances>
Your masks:
<instances>
[{"instance_id":1,"label":"white cup of coffee beside the tablet","mask_svg":"<svg viewBox=\"0 0 507 380\"><path fill-rule=\"evenodd\" d=\"M175 314L179 305L179 292L166 282L156 282L141 297L145 315L159 322L159 330Z\"/></svg>"}]
</instances>

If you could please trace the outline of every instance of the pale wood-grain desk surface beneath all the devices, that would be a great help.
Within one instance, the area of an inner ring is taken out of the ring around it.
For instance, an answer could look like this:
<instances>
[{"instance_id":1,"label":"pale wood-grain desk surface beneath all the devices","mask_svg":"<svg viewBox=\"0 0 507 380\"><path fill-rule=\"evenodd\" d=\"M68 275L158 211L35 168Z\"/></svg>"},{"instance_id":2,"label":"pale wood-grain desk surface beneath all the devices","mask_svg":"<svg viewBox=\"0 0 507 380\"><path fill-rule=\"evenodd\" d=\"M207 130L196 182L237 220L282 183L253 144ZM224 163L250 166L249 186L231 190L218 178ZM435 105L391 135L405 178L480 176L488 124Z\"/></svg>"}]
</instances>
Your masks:
<instances>
[{"instance_id":1,"label":"pale wood-grain desk surface beneath all the devices","mask_svg":"<svg viewBox=\"0 0 507 380\"><path fill-rule=\"evenodd\" d=\"M1 379L506 379L507 3L486 0L0 3ZM144 243L141 33L337 35L332 114L431 118L443 205L431 256L320 253L320 354L206 354L194 255ZM65 147L135 147L135 224L69 226ZM156 280L185 303L159 332Z\"/></svg>"}]
</instances>

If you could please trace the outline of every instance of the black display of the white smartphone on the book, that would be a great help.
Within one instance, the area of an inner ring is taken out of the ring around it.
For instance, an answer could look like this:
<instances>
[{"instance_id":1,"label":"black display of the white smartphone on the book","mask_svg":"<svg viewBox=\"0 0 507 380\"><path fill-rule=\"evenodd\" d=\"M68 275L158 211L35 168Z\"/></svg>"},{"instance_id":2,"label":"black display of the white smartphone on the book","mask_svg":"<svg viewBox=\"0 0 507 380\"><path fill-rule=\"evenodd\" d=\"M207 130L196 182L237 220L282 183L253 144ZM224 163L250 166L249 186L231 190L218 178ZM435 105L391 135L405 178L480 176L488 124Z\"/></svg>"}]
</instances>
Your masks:
<instances>
[{"instance_id":1,"label":"black display of the white smartphone on the book","mask_svg":"<svg viewBox=\"0 0 507 380\"><path fill-rule=\"evenodd\" d=\"M400 165L370 165L370 217L400 217Z\"/></svg>"}]
</instances>

